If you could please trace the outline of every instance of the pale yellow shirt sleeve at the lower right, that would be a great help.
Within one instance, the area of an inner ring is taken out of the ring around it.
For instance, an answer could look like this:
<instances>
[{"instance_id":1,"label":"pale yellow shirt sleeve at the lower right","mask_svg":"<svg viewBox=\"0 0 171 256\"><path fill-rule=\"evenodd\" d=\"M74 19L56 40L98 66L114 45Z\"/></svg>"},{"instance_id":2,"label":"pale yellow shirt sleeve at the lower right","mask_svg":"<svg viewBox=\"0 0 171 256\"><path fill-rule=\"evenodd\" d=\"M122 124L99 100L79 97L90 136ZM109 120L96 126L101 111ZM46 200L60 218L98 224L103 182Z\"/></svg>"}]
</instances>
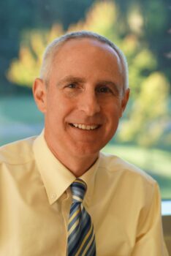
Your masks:
<instances>
[{"instance_id":1,"label":"pale yellow shirt sleeve at the lower right","mask_svg":"<svg viewBox=\"0 0 171 256\"><path fill-rule=\"evenodd\" d=\"M137 239L132 256L169 256L161 225L161 198L157 184L153 187L148 207L140 214ZM149 199L148 197L148 199Z\"/></svg>"}]
</instances>

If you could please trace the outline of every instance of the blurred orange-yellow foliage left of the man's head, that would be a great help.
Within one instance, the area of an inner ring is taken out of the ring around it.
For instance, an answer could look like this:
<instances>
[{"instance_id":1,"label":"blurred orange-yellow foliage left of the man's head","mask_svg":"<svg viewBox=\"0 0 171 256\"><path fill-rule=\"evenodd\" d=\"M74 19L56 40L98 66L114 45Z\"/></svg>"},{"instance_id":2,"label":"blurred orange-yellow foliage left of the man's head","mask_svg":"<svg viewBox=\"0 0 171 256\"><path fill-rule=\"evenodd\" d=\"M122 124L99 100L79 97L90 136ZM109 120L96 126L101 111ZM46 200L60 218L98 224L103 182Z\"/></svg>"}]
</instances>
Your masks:
<instances>
[{"instance_id":1,"label":"blurred orange-yellow foliage left of the man's head","mask_svg":"<svg viewBox=\"0 0 171 256\"><path fill-rule=\"evenodd\" d=\"M59 25L54 25L50 31L34 29L25 32L20 45L19 58L12 61L7 78L13 83L18 83L19 86L31 87L34 78L39 76L45 47L63 33Z\"/></svg>"}]
</instances>

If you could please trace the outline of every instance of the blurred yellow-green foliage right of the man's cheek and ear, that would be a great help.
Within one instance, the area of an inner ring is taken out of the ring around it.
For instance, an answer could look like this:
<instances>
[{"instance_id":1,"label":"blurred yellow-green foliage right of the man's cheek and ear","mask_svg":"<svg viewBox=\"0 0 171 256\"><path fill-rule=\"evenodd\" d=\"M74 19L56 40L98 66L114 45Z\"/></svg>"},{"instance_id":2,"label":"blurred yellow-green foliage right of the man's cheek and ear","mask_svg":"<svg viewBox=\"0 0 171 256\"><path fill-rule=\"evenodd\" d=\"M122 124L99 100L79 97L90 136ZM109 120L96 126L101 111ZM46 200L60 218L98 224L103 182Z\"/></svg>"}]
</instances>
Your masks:
<instances>
[{"instance_id":1,"label":"blurred yellow-green foliage right of the man's cheek and ear","mask_svg":"<svg viewBox=\"0 0 171 256\"><path fill-rule=\"evenodd\" d=\"M124 141L137 141L142 146L155 145L167 124L169 83L159 72L154 72L142 83L139 97L120 132Z\"/></svg>"}]
</instances>

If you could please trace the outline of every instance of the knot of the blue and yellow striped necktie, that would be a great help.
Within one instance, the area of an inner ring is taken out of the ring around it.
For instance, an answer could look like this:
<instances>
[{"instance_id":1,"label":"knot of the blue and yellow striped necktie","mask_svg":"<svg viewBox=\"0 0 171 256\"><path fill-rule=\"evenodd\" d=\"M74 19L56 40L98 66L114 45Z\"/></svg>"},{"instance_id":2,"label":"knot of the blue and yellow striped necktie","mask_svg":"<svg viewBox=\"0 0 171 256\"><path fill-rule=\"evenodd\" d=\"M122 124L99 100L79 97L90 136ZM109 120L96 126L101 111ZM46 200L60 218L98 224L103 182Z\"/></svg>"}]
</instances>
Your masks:
<instances>
[{"instance_id":1,"label":"knot of the blue and yellow striped necktie","mask_svg":"<svg viewBox=\"0 0 171 256\"><path fill-rule=\"evenodd\" d=\"M86 189L87 189L86 183L82 181L80 178L77 178L71 184L73 202L82 203L84 196L86 194Z\"/></svg>"}]
</instances>

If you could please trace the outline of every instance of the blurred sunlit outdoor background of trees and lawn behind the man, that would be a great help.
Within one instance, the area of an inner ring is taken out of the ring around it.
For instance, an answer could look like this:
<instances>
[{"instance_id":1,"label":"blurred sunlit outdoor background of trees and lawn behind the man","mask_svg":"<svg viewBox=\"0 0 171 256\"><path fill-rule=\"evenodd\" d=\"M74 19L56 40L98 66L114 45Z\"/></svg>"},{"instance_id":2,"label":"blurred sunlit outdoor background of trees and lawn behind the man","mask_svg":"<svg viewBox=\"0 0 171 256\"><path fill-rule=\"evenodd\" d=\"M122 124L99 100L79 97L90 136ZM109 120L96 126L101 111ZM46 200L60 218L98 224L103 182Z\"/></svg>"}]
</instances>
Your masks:
<instances>
[{"instance_id":1,"label":"blurred sunlit outdoor background of trees and lawn behind the man","mask_svg":"<svg viewBox=\"0 0 171 256\"><path fill-rule=\"evenodd\" d=\"M66 31L95 31L129 63L131 99L104 151L147 171L171 198L171 6L167 0L6 0L0 7L0 145L37 135L31 96L42 53Z\"/></svg>"}]
</instances>

